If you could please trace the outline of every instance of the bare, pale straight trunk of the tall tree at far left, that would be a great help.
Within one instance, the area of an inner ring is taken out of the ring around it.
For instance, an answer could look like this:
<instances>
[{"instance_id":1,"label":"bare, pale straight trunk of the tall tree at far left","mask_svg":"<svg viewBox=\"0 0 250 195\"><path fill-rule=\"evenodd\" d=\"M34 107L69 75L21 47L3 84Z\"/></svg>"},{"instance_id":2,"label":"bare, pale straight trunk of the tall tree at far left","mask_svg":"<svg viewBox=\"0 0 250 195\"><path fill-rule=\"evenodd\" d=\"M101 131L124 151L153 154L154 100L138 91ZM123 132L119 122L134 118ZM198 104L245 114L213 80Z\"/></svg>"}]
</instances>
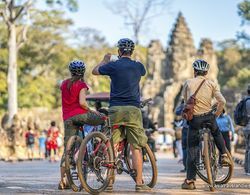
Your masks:
<instances>
[{"instance_id":1,"label":"bare, pale straight trunk of the tall tree at far left","mask_svg":"<svg viewBox=\"0 0 250 195\"><path fill-rule=\"evenodd\" d=\"M17 114L17 42L16 42L16 25L10 24L9 26L9 40L8 40L8 53L9 53L9 67L8 67L8 112L9 122L13 116Z\"/></svg>"}]
</instances>

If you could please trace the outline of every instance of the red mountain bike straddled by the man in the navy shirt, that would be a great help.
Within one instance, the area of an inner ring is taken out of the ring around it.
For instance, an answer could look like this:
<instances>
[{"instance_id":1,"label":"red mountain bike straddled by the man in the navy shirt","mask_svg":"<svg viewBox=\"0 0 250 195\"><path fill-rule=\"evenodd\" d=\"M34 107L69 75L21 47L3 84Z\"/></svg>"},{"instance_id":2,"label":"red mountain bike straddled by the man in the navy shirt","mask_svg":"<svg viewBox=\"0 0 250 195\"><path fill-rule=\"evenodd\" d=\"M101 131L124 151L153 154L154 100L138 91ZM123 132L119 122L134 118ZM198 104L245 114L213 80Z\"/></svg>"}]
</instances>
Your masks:
<instances>
[{"instance_id":1,"label":"red mountain bike straddled by the man in the navy shirt","mask_svg":"<svg viewBox=\"0 0 250 195\"><path fill-rule=\"evenodd\" d=\"M150 100L141 102L141 107ZM77 160L77 170L83 188L91 193L98 194L104 191L110 183L114 182L114 170L117 174L123 172L136 179L136 170L131 163L130 145L126 139L122 140L115 152L109 118L102 132L92 132L82 141ZM125 129L124 129L125 130ZM142 148L143 157L143 182L153 188L157 181L157 166L154 155L148 145ZM84 172L86 170L86 172Z\"/></svg>"}]
</instances>

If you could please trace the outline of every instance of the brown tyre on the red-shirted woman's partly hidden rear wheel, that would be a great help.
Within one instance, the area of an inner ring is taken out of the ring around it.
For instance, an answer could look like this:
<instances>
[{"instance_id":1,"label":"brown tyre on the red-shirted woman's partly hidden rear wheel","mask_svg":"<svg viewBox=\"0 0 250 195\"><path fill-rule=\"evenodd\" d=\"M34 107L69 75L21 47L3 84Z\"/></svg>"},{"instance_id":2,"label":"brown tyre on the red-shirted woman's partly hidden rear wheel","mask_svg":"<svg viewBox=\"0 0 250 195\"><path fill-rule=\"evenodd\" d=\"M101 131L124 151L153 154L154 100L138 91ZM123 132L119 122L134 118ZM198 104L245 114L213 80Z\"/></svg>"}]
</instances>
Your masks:
<instances>
[{"instance_id":1,"label":"brown tyre on the red-shirted woman's partly hidden rear wheel","mask_svg":"<svg viewBox=\"0 0 250 195\"><path fill-rule=\"evenodd\" d=\"M82 139L77 136L71 136L67 142L66 145L66 153L65 153L65 172L67 175L67 179L68 179L68 183L70 188L74 191L74 192L79 192L82 190L81 186L78 186L77 184L75 184L71 172L70 172L70 167L72 165L72 153L75 151L75 147L80 147ZM76 166L76 162L75 165Z\"/></svg>"}]
</instances>

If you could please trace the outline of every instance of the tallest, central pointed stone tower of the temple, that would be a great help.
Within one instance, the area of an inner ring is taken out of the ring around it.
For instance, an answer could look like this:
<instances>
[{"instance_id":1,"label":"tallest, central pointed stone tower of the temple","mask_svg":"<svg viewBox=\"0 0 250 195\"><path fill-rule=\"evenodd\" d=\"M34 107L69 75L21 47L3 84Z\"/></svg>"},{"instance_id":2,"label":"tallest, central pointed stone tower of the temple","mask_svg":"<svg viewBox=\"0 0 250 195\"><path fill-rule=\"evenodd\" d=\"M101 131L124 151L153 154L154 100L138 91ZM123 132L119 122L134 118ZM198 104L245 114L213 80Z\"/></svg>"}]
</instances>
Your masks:
<instances>
[{"instance_id":1,"label":"tallest, central pointed stone tower of the temple","mask_svg":"<svg viewBox=\"0 0 250 195\"><path fill-rule=\"evenodd\" d=\"M164 92L164 124L171 127L173 111L178 103L185 80L193 76L192 62L196 56L191 32L182 13L179 13L170 35L166 56L166 79L168 84Z\"/></svg>"}]
</instances>

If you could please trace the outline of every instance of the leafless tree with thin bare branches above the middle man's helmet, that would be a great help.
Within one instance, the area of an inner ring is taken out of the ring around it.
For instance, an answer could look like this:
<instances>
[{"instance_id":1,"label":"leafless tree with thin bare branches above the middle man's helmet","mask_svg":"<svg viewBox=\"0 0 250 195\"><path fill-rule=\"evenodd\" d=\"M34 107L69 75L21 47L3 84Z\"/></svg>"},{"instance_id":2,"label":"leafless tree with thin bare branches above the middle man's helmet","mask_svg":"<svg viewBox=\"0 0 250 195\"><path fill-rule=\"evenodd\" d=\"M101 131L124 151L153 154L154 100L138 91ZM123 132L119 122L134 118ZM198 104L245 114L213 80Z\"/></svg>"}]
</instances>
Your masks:
<instances>
[{"instance_id":1,"label":"leafless tree with thin bare branches above the middle man's helmet","mask_svg":"<svg viewBox=\"0 0 250 195\"><path fill-rule=\"evenodd\" d=\"M170 0L120 0L109 1L107 7L125 20L125 26L132 26L136 44L145 24L167 10Z\"/></svg>"}]
</instances>

